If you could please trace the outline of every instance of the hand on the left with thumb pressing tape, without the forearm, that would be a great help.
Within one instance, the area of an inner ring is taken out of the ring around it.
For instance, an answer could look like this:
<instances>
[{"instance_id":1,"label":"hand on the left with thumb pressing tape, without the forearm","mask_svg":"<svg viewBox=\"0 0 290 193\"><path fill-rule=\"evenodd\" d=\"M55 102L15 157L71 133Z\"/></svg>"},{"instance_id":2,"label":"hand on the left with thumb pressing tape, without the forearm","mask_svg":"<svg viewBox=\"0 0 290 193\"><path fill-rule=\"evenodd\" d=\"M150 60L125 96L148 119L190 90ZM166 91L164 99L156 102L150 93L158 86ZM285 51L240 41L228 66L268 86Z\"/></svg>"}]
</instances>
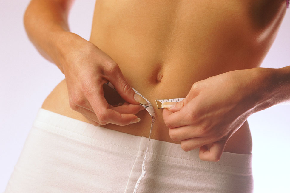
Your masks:
<instances>
[{"instance_id":1,"label":"hand on the left with thumb pressing tape, without the forearm","mask_svg":"<svg viewBox=\"0 0 290 193\"><path fill-rule=\"evenodd\" d=\"M128 125L139 122L135 115L147 102L135 94L124 78L118 64L93 43L71 33L72 41L63 44L58 62L67 82L70 107L83 114L93 125ZM126 101L109 105L103 84L111 82Z\"/></svg>"}]
</instances>

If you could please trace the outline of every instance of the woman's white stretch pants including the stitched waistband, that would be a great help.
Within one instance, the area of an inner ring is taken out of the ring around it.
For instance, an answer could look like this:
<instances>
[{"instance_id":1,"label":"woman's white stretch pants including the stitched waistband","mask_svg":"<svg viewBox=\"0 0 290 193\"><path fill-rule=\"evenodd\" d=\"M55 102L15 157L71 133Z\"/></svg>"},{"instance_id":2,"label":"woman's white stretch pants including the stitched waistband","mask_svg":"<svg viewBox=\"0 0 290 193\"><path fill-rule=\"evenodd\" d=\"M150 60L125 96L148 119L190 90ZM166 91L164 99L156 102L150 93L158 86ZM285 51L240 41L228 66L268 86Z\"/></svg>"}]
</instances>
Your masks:
<instances>
[{"instance_id":1,"label":"woman's white stretch pants including the stitched waistband","mask_svg":"<svg viewBox=\"0 0 290 193\"><path fill-rule=\"evenodd\" d=\"M5 193L131 193L147 143L40 108ZM252 154L228 152L201 161L198 149L151 139L138 192L252 192L251 161Z\"/></svg>"}]
</instances>

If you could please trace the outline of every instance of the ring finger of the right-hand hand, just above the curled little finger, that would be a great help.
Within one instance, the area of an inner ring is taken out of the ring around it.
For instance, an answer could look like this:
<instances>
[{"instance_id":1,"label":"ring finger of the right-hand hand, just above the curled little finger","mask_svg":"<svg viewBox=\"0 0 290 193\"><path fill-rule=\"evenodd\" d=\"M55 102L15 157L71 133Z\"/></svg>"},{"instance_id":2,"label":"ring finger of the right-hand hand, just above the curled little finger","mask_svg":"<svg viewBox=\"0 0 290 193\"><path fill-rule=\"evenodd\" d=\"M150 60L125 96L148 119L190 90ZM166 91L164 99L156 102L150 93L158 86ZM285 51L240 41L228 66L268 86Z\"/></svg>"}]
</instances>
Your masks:
<instances>
[{"instance_id":1,"label":"ring finger of the right-hand hand, just above the curled little finger","mask_svg":"<svg viewBox=\"0 0 290 193\"><path fill-rule=\"evenodd\" d=\"M210 143L212 143L212 139L208 137L196 137L180 141L181 148L184 151L191 151Z\"/></svg>"}]
</instances>

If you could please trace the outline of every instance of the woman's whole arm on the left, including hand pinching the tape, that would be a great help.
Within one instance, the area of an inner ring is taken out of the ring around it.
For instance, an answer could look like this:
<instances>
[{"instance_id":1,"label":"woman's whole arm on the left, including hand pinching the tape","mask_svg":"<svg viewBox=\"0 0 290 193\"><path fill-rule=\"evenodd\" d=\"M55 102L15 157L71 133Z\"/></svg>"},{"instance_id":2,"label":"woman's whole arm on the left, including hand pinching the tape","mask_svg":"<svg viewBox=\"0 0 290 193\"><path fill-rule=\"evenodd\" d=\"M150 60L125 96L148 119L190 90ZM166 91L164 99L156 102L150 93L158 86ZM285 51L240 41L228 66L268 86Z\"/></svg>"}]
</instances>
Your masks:
<instances>
[{"instance_id":1,"label":"woman's whole arm on the left, including hand pinching the tape","mask_svg":"<svg viewBox=\"0 0 290 193\"><path fill-rule=\"evenodd\" d=\"M64 73L73 110L95 126L139 122L135 114L143 110L139 103L144 99L135 94L118 64L93 43L69 32L67 17L72 2L32 0L24 14L28 37L41 55ZM108 104L103 90L108 81L126 103L118 107Z\"/></svg>"}]
</instances>

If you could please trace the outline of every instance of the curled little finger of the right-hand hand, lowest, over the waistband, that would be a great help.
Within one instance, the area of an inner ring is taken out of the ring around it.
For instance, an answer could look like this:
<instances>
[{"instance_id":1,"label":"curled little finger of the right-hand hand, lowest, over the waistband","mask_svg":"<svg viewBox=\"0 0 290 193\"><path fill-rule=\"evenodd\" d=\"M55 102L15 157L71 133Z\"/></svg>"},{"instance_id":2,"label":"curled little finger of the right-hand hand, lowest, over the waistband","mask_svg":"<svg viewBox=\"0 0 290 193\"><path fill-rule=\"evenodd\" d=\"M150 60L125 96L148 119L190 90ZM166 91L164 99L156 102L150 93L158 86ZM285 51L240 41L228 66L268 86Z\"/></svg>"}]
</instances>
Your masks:
<instances>
[{"instance_id":1,"label":"curled little finger of the right-hand hand, lowest, over the waistband","mask_svg":"<svg viewBox=\"0 0 290 193\"><path fill-rule=\"evenodd\" d=\"M210 148L207 145L201 146L199 149L199 158L203 161L217 162L220 160L225 147L226 140L213 142Z\"/></svg>"}]
</instances>

